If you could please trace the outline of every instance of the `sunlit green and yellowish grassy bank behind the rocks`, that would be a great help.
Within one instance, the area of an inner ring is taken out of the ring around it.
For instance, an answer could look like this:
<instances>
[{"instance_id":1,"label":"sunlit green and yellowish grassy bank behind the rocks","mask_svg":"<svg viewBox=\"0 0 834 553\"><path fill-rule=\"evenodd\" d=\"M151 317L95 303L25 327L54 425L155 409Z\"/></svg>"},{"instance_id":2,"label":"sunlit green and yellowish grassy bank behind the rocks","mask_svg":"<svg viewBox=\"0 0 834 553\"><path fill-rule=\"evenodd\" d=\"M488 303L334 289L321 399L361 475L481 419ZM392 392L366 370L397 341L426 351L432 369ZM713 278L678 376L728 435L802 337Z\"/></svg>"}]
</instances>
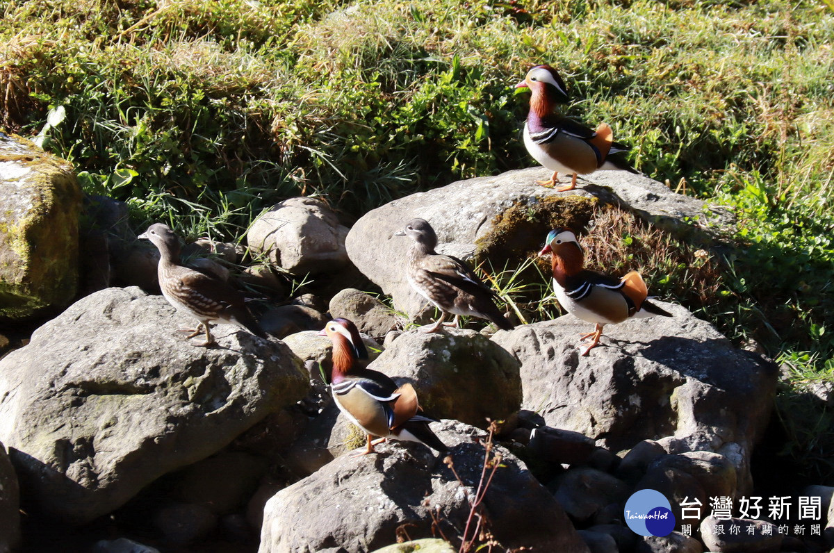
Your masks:
<instances>
[{"instance_id":1,"label":"sunlit green and yellowish grassy bank behind the rocks","mask_svg":"<svg viewBox=\"0 0 834 553\"><path fill-rule=\"evenodd\" d=\"M761 344L794 383L785 398L834 375L830 3L2 0L0 13L0 126L43 131L137 228L213 238L297 194L352 219L532 165L527 97L511 87L550 63L565 113L610 123L642 172L739 221L726 257L627 218L593 227L590 257L643 269L666 299Z\"/></svg>"}]
</instances>

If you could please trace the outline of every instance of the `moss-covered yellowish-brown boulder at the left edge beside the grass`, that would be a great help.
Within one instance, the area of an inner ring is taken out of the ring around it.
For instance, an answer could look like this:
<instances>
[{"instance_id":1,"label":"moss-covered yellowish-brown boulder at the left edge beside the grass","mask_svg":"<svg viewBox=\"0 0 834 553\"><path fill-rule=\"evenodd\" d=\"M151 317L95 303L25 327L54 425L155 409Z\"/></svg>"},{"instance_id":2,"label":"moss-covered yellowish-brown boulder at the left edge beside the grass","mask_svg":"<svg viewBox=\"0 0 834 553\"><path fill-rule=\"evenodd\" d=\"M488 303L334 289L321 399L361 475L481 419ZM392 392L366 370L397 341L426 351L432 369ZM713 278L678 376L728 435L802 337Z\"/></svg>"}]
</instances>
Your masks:
<instances>
[{"instance_id":1,"label":"moss-covered yellowish-brown boulder at the left edge beside the grass","mask_svg":"<svg viewBox=\"0 0 834 553\"><path fill-rule=\"evenodd\" d=\"M73 167L28 140L0 133L0 320L72 301L80 213Z\"/></svg>"}]
</instances>

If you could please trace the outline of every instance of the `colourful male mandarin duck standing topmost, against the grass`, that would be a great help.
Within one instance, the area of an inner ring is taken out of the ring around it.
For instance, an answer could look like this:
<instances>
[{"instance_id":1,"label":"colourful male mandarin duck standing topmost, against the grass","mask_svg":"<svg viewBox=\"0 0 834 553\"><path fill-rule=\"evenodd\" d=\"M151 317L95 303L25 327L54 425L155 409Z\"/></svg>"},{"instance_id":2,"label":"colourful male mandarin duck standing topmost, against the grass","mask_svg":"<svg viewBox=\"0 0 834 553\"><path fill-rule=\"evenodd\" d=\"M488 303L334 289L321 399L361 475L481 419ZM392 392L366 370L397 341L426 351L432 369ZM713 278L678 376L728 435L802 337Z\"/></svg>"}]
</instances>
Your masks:
<instances>
[{"instance_id":1,"label":"colourful male mandarin duck standing topmost, against the grass","mask_svg":"<svg viewBox=\"0 0 834 553\"><path fill-rule=\"evenodd\" d=\"M629 148L613 142L611 128L600 123L596 131L554 113L555 103L565 102L567 88L562 78L549 65L530 69L525 80L515 88L530 88L530 113L524 127L527 152L546 168L553 171L550 180L537 181L552 187L559 173L572 173L570 184L556 189L559 192L576 188L576 175L598 170L623 169L636 173L628 163L614 156Z\"/></svg>"}]
</instances>

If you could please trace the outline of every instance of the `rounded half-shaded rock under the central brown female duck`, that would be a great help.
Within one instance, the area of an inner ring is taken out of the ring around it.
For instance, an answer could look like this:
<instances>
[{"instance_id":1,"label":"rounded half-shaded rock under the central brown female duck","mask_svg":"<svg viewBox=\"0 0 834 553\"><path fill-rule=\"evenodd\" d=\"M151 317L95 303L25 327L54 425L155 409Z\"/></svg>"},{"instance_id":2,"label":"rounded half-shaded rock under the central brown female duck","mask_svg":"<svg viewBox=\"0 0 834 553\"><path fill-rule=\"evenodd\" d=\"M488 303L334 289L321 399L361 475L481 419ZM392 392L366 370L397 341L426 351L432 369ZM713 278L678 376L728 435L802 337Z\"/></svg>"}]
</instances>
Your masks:
<instances>
[{"instance_id":1,"label":"rounded half-shaded rock under the central brown female duck","mask_svg":"<svg viewBox=\"0 0 834 553\"><path fill-rule=\"evenodd\" d=\"M519 410L518 362L473 330L404 333L368 367L397 384L410 382L426 413L440 419L486 427L487 418Z\"/></svg>"}]
</instances>

